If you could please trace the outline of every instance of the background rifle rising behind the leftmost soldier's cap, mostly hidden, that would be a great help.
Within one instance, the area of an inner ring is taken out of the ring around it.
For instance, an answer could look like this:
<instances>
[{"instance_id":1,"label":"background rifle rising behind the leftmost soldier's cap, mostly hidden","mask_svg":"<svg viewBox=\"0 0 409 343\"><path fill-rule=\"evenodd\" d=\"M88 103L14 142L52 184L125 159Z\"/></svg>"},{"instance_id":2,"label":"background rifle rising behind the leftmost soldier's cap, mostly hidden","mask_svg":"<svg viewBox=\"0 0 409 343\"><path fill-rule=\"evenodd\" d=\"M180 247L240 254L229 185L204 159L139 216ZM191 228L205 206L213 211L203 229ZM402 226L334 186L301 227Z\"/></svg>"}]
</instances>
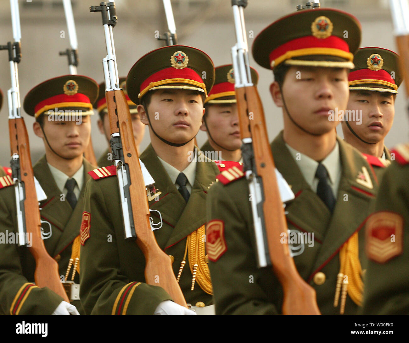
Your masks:
<instances>
[{"instance_id":1,"label":"background rifle rising behind the leftmost soldier's cap, mostly hidden","mask_svg":"<svg viewBox=\"0 0 409 343\"><path fill-rule=\"evenodd\" d=\"M67 20L68 37L70 39L71 48L67 48L65 51L60 51L60 56L67 56L68 69L71 75L77 75L76 67L78 66L78 41L76 39L76 30L74 15L72 14L71 0L63 0L65 19ZM97 166L97 159L95 158L94 148L92 147L92 139L84 151L84 157L92 164Z\"/></svg>"}]
</instances>

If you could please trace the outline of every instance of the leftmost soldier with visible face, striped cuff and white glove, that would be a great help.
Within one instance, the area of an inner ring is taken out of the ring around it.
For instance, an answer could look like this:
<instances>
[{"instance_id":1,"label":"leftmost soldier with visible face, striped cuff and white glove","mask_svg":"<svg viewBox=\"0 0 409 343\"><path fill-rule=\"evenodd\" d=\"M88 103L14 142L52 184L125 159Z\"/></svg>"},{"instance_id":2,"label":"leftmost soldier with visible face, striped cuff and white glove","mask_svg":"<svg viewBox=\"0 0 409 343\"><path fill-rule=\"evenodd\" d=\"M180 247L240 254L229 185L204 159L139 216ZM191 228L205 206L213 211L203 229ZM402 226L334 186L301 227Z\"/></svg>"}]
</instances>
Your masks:
<instances>
[{"instance_id":1,"label":"leftmost soldier with visible face, striped cuff and white glove","mask_svg":"<svg viewBox=\"0 0 409 343\"><path fill-rule=\"evenodd\" d=\"M24 110L36 118L34 133L43 139L45 155L34 165L34 176L47 199L40 202L45 248L58 262L62 278L71 281L71 304L34 284L36 263L27 248L0 244L1 314L84 313L79 301L79 228L85 183L94 167L84 158L91 133L89 115L98 96L98 84L86 76L65 75L47 80L29 91ZM10 181L10 180L9 180ZM14 188L1 182L0 231L17 232ZM26 213L26 215L30 215ZM3 236L4 237L4 236ZM76 270L75 270L76 269ZM68 274L67 271L71 272ZM75 270L75 272L74 272Z\"/></svg>"}]
</instances>

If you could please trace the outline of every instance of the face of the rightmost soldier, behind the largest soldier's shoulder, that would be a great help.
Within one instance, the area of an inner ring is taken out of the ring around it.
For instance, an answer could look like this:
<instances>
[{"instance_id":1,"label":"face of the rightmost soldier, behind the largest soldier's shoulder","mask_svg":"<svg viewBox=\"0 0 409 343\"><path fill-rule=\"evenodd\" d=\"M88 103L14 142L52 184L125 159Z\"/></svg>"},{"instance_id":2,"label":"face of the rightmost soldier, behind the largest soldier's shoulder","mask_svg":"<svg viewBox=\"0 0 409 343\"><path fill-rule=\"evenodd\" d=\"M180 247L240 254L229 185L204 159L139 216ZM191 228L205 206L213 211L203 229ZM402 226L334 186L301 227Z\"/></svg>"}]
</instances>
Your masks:
<instances>
[{"instance_id":1,"label":"face of the rightmost soldier, behind the largest soldier's shoulder","mask_svg":"<svg viewBox=\"0 0 409 343\"><path fill-rule=\"evenodd\" d=\"M351 91L348 100L348 124L355 133L369 143L380 142L389 132L395 116L395 99L392 93L374 91ZM352 112L353 111L353 112ZM352 135L342 122L345 135Z\"/></svg>"}]
</instances>

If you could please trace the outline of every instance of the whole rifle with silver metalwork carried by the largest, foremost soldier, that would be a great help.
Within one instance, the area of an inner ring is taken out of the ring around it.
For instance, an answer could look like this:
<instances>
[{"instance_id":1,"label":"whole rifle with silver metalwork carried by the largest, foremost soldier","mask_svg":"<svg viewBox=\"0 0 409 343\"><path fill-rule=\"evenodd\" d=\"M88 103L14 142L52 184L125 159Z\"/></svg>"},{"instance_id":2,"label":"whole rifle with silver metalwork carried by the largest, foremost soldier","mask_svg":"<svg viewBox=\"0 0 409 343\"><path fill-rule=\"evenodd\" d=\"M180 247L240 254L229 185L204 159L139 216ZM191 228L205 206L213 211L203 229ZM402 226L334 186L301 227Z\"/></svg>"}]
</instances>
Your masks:
<instances>
[{"instance_id":1,"label":"whole rifle with silver metalwork carried by the largest, foremost soldier","mask_svg":"<svg viewBox=\"0 0 409 343\"><path fill-rule=\"evenodd\" d=\"M320 314L315 290L298 274L287 243L287 224L268 142L263 105L252 84L243 9L247 0L231 0L237 43L232 47L244 172L253 195L251 206L258 267L272 265L284 292L283 314ZM286 242L286 240L285 240Z\"/></svg>"}]
</instances>

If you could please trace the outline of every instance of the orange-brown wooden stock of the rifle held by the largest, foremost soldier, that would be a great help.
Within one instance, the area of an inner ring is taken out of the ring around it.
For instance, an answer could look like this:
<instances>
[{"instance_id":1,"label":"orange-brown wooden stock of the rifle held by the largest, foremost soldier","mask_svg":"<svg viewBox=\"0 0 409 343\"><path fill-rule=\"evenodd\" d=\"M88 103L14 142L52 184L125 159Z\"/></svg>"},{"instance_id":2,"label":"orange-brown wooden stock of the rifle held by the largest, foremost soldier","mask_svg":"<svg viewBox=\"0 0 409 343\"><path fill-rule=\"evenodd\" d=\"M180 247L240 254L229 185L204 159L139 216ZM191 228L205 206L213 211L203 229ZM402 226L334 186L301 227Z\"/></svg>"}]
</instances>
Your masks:
<instances>
[{"instance_id":1,"label":"orange-brown wooden stock of the rifle held by the largest, foremost soldier","mask_svg":"<svg viewBox=\"0 0 409 343\"><path fill-rule=\"evenodd\" d=\"M241 138L252 138L257 175L263 180L263 212L273 270L284 292L283 314L320 314L315 290L299 275L287 243L287 223L256 86L236 88ZM252 115L252 118L249 117Z\"/></svg>"}]
</instances>

